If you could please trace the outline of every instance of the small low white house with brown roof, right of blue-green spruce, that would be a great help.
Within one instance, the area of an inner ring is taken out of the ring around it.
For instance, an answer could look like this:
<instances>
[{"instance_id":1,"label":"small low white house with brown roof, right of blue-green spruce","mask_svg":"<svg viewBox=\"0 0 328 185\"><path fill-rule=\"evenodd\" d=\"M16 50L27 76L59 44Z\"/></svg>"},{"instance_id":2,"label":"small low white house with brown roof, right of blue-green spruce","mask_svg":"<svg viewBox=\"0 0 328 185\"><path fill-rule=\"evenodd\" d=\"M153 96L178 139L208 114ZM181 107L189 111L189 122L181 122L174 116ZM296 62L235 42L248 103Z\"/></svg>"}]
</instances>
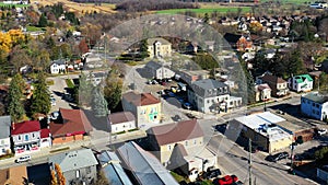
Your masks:
<instances>
[{"instance_id":1,"label":"small low white house with brown roof, right of blue-green spruce","mask_svg":"<svg viewBox=\"0 0 328 185\"><path fill-rule=\"evenodd\" d=\"M108 115L110 132L121 132L136 129L136 118L131 112L113 113Z\"/></svg>"}]
</instances>

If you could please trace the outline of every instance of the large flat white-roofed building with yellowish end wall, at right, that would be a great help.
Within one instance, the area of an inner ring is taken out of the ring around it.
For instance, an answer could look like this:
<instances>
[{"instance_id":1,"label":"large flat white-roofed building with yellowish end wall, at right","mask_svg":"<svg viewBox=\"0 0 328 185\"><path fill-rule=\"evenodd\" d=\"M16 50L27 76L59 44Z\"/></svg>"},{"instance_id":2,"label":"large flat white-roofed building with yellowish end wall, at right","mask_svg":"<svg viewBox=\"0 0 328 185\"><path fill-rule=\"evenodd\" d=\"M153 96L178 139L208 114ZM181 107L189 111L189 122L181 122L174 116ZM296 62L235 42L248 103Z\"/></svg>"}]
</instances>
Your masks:
<instances>
[{"instance_id":1,"label":"large flat white-roofed building with yellowish end wall, at right","mask_svg":"<svg viewBox=\"0 0 328 185\"><path fill-rule=\"evenodd\" d=\"M293 142L293 135L278 127L276 123L285 119L270 112L242 116L230 122L226 132L251 139L254 146L272 153L281 149L289 148Z\"/></svg>"}]
</instances>

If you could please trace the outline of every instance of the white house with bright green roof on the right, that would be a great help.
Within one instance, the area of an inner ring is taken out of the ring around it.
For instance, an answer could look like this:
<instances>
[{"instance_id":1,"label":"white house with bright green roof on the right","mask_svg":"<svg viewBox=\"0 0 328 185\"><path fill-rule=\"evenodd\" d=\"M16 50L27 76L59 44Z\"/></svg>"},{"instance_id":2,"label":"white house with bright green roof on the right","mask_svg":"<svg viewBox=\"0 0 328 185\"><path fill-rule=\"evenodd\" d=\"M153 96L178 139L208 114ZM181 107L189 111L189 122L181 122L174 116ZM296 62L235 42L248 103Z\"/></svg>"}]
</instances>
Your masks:
<instances>
[{"instance_id":1,"label":"white house with bright green roof on the right","mask_svg":"<svg viewBox=\"0 0 328 185\"><path fill-rule=\"evenodd\" d=\"M308 92L313 89L313 79L309 74L294 76L289 79L289 88L296 92Z\"/></svg>"}]
</instances>

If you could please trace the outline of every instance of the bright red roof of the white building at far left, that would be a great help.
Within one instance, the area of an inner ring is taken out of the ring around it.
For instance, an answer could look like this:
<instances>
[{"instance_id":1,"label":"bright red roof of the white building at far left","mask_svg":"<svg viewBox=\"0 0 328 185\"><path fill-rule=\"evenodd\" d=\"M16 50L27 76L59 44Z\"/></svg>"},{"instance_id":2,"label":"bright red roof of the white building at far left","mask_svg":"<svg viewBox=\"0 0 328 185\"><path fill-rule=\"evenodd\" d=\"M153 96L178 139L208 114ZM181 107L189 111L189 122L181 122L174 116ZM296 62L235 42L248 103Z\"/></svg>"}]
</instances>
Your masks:
<instances>
[{"instance_id":1,"label":"bright red roof of the white building at far left","mask_svg":"<svg viewBox=\"0 0 328 185\"><path fill-rule=\"evenodd\" d=\"M20 135L33 131L39 131L40 126L38 120L25 120L19 124L12 125L11 135Z\"/></svg>"}]
</instances>

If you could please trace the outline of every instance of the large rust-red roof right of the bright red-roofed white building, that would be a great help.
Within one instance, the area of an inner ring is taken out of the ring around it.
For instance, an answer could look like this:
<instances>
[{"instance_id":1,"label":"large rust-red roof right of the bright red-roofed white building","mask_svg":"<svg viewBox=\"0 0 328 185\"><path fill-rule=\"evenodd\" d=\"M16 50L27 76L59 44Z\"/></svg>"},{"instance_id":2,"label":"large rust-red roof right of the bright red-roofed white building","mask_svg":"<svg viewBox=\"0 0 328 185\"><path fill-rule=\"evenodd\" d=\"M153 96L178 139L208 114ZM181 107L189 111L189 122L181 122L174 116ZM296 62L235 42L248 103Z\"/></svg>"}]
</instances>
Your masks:
<instances>
[{"instance_id":1,"label":"large rust-red roof right of the bright red-roofed white building","mask_svg":"<svg viewBox=\"0 0 328 185\"><path fill-rule=\"evenodd\" d=\"M81 109L59 108L63 123L49 124L50 132L56 136L72 136L92 130L91 124Z\"/></svg>"}]
</instances>

